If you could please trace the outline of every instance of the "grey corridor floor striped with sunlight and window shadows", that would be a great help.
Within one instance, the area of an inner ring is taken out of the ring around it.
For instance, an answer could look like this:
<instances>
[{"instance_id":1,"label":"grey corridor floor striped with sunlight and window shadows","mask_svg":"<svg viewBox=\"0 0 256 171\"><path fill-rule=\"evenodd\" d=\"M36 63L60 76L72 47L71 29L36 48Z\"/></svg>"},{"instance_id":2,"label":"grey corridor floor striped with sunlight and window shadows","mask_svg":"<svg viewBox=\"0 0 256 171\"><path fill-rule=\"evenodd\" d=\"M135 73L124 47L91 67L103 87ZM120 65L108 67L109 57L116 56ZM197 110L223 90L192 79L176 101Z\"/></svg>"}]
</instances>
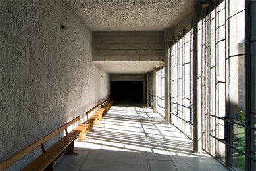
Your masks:
<instances>
[{"instance_id":1,"label":"grey corridor floor striped with sunlight and window shadows","mask_svg":"<svg viewBox=\"0 0 256 171\"><path fill-rule=\"evenodd\" d=\"M205 152L193 154L192 141L148 107L113 106L99 123L55 170L226 170Z\"/></svg>"}]
</instances>

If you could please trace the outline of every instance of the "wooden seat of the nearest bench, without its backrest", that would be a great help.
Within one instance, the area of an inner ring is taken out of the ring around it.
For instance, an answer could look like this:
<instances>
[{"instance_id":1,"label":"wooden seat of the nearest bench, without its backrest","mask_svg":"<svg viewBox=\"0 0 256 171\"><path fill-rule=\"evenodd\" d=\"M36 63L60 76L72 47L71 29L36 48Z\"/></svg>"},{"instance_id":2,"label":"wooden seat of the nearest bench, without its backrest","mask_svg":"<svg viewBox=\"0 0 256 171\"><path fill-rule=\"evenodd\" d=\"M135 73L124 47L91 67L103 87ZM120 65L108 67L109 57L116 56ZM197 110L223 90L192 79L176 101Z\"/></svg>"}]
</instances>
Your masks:
<instances>
[{"instance_id":1,"label":"wooden seat of the nearest bench, without its backrest","mask_svg":"<svg viewBox=\"0 0 256 171\"><path fill-rule=\"evenodd\" d=\"M59 142L45 151L45 153L36 158L36 160L28 164L23 170L44 170L76 139L80 132L78 130L72 130L68 135L64 136Z\"/></svg>"}]
</instances>

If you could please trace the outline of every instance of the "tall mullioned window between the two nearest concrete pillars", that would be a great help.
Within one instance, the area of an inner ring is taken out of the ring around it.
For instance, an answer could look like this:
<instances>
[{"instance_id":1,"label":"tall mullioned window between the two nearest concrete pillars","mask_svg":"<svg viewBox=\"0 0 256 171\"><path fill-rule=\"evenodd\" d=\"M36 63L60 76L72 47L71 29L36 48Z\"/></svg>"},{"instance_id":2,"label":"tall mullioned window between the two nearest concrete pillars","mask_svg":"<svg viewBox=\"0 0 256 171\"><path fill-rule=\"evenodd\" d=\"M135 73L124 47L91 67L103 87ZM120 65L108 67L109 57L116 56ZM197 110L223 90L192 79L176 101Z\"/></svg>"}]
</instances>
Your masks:
<instances>
[{"instance_id":1,"label":"tall mullioned window between the two nearest concrete pillars","mask_svg":"<svg viewBox=\"0 0 256 171\"><path fill-rule=\"evenodd\" d=\"M170 114L172 124L192 137L192 29L178 35L170 55Z\"/></svg>"}]
</instances>

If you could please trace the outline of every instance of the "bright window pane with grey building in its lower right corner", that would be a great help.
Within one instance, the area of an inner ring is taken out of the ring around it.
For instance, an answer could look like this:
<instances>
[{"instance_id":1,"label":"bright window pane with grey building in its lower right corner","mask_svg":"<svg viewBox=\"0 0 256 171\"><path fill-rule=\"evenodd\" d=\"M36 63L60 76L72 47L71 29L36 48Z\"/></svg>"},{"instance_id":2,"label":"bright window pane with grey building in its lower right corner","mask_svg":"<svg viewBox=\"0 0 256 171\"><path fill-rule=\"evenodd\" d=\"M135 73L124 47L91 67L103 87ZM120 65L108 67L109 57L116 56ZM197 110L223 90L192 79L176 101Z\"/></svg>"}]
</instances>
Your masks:
<instances>
[{"instance_id":1,"label":"bright window pane with grey building in its lower right corner","mask_svg":"<svg viewBox=\"0 0 256 171\"><path fill-rule=\"evenodd\" d=\"M230 56L244 53L244 11L230 18Z\"/></svg>"}]
</instances>

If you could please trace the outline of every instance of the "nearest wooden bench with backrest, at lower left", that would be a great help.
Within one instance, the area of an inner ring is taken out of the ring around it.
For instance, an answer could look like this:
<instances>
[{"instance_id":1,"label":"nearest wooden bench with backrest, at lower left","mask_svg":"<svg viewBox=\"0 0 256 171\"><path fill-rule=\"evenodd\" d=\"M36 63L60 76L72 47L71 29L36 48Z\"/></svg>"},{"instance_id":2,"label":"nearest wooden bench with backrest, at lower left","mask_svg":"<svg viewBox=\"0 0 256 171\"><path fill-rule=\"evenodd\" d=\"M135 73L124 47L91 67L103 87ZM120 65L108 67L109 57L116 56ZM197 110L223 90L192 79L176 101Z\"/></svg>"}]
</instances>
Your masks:
<instances>
[{"instance_id":1,"label":"nearest wooden bench with backrest, at lower left","mask_svg":"<svg viewBox=\"0 0 256 171\"><path fill-rule=\"evenodd\" d=\"M76 140L76 138L80 136L81 133L86 131L86 127L78 126L69 133L67 131L67 128L68 126L76 123L77 121L80 121L80 116L64 124L57 130L54 130L47 136L44 136L37 142L32 143L32 145L29 145L25 149L22 149L22 151L16 153L9 159L1 162L0 169L5 170L9 166L11 166L11 164L18 161L37 147L41 146L43 153L30 164L28 164L28 166L26 166L23 170L53 170L55 162L57 162L62 155L76 155L76 153L74 153L74 140ZM53 136L61 133L63 130L65 130L66 136L61 138L61 140L59 140L57 143L55 143L53 146L45 151L44 143L53 138Z\"/></svg>"}]
</instances>

